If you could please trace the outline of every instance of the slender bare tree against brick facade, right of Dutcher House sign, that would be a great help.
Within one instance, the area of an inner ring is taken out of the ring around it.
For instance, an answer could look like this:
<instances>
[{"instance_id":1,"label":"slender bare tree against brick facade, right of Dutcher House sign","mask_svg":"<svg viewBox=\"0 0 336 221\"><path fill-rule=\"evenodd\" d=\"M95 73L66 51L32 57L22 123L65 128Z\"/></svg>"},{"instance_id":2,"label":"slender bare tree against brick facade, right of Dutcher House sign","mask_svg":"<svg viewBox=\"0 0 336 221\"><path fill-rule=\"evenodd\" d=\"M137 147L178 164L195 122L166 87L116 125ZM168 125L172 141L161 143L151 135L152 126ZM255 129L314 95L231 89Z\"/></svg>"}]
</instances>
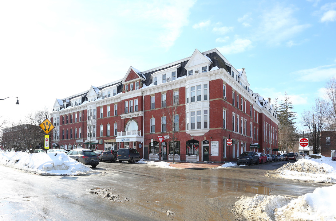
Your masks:
<instances>
[{"instance_id":1,"label":"slender bare tree against brick facade, right of Dutcher House sign","mask_svg":"<svg viewBox=\"0 0 336 221\"><path fill-rule=\"evenodd\" d=\"M168 145L173 150L173 163L175 163L175 153L178 147L175 140L177 140L178 133L185 125L185 106L179 104L178 90L167 90L166 96L166 103L162 103L162 107L165 108L161 117L161 125L164 127L162 129L165 129L169 135Z\"/></svg>"}]
</instances>

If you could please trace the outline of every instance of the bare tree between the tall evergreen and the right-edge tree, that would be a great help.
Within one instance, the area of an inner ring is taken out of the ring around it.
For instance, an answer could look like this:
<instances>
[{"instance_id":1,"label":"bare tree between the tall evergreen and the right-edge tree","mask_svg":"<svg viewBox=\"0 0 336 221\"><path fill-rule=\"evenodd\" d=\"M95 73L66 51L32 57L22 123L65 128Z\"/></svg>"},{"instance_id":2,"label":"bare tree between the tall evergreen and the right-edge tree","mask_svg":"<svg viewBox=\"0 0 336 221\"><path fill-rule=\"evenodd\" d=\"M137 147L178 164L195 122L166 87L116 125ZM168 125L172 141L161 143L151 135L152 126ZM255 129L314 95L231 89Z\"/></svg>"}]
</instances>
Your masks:
<instances>
[{"instance_id":1,"label":"bare tree between the tall evergreen and the right-edge tree","mask_svg":"<svg viewBox=\"0 0 336 221\"><path fill-rule=\"evenodd\" d=\"M313 147L313 153L321 153L321 131L327 126L328 120L328 103L321 99L315 99L315 105L311 110L303 111L301 117L301 124L309 131L307 133L309 138L309 146Z\"/></svg>"}]
</instances>

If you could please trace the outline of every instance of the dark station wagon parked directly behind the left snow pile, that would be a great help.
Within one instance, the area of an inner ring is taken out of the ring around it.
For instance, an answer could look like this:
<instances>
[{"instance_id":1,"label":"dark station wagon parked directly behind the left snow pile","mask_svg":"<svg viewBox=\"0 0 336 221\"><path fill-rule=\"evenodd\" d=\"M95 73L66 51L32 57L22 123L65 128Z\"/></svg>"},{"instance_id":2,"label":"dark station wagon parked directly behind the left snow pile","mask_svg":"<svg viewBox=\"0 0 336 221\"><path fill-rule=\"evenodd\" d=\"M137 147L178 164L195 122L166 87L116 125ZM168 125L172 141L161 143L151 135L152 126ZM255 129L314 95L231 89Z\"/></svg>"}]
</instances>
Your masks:
<instances>
[{"instance_id":1,"label":"dark station wagon parked directly behind the left snow pile","mask_svg":"<svg viewBox=\"0 0 336 221\"><path fill-rule=\"evenodd\" d=\"M67 155L85 165L91 165L92 168L99 164L99 157L92 150L78 148L69 151Z\"/></svg>"}]
</instances>

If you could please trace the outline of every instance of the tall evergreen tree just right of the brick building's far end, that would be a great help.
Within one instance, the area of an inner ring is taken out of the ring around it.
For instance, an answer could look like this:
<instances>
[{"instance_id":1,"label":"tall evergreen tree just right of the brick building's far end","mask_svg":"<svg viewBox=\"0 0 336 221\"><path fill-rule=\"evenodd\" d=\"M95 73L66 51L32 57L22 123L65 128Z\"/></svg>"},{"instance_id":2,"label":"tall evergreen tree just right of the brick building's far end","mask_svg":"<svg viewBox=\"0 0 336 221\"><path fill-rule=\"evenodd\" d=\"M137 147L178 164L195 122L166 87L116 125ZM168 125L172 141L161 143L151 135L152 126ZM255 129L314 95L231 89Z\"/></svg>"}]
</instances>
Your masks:
<instances>
[{"instance_id":1,"label":"tall evergreen tree just right of the brick building's far end","mask_svg":"<svg viewBox=\"0 0 336 221\"><path fill-rule=\"evenodd\" d=\"M293 112L292 102L285 93L285 98L276 108L279 120L278 124L278 146L281 151L292 152L295 141L297 140L296 127L294 120L297 119L296 112ZM290 151L289 151L290 150Z\"/></svg>"}]
</instances>

